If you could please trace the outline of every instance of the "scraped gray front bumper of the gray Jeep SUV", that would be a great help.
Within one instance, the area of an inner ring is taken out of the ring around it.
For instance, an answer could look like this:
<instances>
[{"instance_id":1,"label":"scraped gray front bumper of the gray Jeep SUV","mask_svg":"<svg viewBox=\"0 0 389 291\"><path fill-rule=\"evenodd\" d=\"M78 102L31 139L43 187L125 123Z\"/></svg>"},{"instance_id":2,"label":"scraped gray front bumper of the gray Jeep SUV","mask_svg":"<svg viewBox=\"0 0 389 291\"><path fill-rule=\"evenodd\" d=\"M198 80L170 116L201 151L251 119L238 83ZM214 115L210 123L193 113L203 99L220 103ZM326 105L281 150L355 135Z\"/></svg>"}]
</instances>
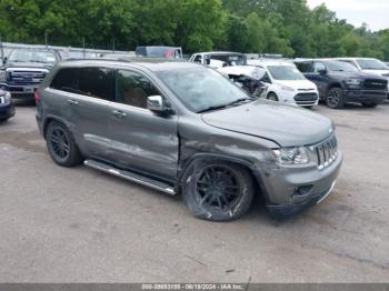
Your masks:
<instances>
[{"instance_id":1,"label":"scraped gray front bumper of the gray Jeep SUV","mask_svg":"<svg viewBox=\"0 0 389 291\"><path fill-rule=\"evenodd\" d=\"M282 167L272 169L263 179L267 208L276 218L290 217L326 199L335 187L342 153L327 168Z\"/></svg>"}]
</instances>

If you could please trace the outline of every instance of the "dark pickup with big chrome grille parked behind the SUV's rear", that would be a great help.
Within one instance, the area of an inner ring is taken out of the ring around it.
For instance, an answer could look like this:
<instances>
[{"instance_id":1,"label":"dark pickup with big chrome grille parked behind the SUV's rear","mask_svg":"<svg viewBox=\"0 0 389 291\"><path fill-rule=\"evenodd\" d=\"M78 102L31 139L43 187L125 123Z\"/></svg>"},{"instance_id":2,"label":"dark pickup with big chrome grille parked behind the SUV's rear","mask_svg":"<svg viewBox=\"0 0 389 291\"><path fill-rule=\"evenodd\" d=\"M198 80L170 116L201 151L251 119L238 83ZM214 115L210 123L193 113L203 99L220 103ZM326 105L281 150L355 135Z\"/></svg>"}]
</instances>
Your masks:
<instances>
[{"instance_id":1,"label":"dark pickup with big chrome grille parked behind the SUV's rear","mask_svg":"<svg viewBox=\"0 0 389 291\"><path fill-rule=\"evenodd\" d=\"M33 100L38 86L60 59L54 50L14 49L0 68L0 88L13 99Z\"/></svg>"}]
</instances>

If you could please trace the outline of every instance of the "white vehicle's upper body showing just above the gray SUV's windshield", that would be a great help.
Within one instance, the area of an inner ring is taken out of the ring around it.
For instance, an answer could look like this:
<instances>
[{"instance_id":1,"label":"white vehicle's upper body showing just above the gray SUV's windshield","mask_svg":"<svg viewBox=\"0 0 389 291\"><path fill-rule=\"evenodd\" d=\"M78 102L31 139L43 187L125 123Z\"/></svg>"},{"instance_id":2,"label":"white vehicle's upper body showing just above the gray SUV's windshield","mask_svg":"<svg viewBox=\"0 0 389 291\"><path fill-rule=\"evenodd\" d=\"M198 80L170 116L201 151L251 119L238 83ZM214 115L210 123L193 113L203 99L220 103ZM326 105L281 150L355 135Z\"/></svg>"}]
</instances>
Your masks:
<instances>
[{"instance_id":1,"label":"white vehicle's upper body showing just above the gray SUV's windshield","mask_svg":"<svg viewBox=\"0 0 389 291\"><path fill-rule=\"evenodd\" d=\"M190 57L189 61L219 69L229 66L246 66L247 57L243 53L230 51L198 52Z\"/></svg>"}]
</instances>

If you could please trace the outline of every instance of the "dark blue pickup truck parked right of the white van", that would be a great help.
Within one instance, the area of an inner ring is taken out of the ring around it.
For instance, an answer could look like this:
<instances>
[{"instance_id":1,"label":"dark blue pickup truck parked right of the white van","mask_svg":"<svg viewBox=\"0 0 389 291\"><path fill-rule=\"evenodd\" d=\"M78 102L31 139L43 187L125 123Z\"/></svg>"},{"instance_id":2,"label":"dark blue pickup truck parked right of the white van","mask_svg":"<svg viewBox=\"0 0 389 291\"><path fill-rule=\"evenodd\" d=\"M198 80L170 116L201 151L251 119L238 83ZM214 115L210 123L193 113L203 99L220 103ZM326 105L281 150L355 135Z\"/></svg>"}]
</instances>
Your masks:
<instances>
[{"instance_id":1,"label":"dark blue pickup truck parked right of the white van","mask_svg":"<svg viewBox=\"0 0 389 291\"><path fill-rule=\"evenodd\" d=\"M317 84L320 99L330 108L339 109L348 102L372 108L387 96L385 78L360 72L349 63L329 59L296 60L295 63Z\"/></svg>"}]
</instances>

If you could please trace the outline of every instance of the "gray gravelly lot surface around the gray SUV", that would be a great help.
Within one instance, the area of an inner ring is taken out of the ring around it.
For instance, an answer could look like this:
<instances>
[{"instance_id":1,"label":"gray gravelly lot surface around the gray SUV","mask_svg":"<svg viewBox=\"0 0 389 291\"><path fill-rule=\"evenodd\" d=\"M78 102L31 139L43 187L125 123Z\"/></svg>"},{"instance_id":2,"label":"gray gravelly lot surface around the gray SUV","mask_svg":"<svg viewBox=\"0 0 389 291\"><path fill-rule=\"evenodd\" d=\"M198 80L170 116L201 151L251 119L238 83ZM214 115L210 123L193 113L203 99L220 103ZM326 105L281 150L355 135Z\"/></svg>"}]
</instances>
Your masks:
<instances>
[{"instance_id":1,"label":"gray gravelly lot surface around the gray SUV","mask_svg":"<svg viewBox=\"0 0 389 291\"><path fill-rule=\"evenodd\" d=\"M321 204L279 223L193 218L180 197L49 158L34 107L0 124L1 282L388 282L389 104L315 111L345 163Z\"/></svg>"}]
</instances>

